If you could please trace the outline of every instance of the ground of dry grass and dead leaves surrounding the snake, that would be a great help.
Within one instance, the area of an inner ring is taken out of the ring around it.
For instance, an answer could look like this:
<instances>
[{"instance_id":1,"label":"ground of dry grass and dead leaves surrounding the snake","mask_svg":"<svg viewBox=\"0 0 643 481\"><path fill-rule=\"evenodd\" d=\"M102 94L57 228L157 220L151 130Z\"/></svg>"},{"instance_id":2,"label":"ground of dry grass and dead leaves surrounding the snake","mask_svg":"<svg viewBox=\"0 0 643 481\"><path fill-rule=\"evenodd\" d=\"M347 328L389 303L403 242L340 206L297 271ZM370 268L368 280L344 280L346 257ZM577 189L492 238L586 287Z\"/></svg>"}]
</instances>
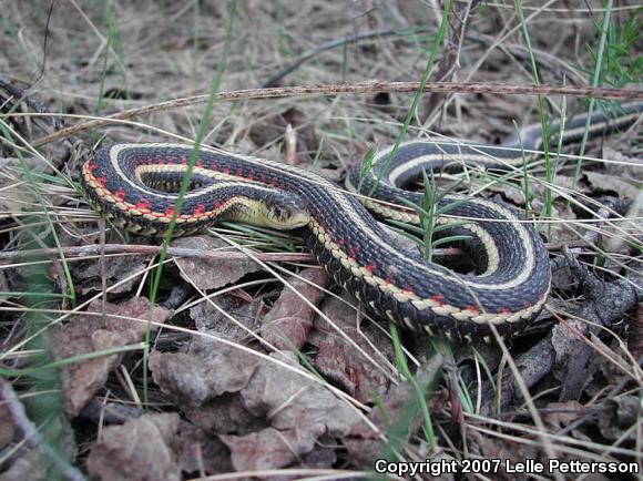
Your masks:
<instances>
[{"instance_id":1,"label":"ground of dry grass and dead leaves surrounding the snake","mask_svg":"<svg viewBox=\"0 0 643 481\"><path fill-rule=\"evenodd\" d=\"M635 1L0 0L0 480L640 478L640 24ZM501 145L619 104L512 175L437 180L550 255L543 310L491 344L391 328L297 232L165 253L79 186L101 146L195 139L343 186L400 131Z\"/></svg>"}]
</instances>

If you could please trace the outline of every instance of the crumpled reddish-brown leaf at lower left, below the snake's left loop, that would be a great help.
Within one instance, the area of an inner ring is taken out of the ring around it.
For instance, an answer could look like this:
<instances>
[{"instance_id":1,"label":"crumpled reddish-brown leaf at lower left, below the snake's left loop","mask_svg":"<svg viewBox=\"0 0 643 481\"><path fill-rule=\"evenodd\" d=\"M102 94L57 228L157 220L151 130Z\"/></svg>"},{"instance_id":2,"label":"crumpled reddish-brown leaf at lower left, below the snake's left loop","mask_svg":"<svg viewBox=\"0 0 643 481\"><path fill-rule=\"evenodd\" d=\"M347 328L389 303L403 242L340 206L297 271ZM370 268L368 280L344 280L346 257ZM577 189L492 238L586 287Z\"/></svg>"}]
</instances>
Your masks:
<instances>
[{"instance_id":1,"label":"crumpled reddish-brown leaf at lower left, below the snake's left loop","mask_svg":"<svg viewBox=\"0 0 643 481\"><path fill-rule=\"evenodd\" d=\"M100 313L100 300L90 304L88 310ZM143 338L150 301L144 297L133 297L123 304L105 303L105 317L80 314L65 326L51 329L52 351L57 359L95 352L109 348L135 344ZM163 307L152 309L151 319L164 323L172 313ZM126 316L141 320L122 319ZM154 328L154 327L153 327ZM109 372L121 364L123 355L101 356L61 368L60 378L65 397L65 410L76 416L84 403L106 381Z\"/></svg>"}]
</instances>

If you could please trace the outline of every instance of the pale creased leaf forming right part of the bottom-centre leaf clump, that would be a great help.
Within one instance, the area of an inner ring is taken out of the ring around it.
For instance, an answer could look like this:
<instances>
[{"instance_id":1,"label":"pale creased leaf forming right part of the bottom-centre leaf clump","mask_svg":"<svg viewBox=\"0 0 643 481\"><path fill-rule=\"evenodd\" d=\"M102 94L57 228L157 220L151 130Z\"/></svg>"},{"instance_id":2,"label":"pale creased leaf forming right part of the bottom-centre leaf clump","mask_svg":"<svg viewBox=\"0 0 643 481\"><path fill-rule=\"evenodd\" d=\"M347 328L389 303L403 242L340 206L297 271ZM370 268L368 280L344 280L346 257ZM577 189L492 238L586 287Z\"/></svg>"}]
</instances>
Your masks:
<instances>
[{"instance_id":1,"label":"pale creased leaf forming right part of the bottom-centre leaf clump","mask_svg":"<svg viewBox=\"0 0 643 481\"><path fill-rule=\"evenodd\" d=\"M290 351L272 352L271 357L298 366ZM328 434L343 436L360 419L355 408L318 382L274 362L262 364L241 393L254 416L268 417L279 430L317 432L318 424L323 424Z\"/></svg>"}]
</instances>

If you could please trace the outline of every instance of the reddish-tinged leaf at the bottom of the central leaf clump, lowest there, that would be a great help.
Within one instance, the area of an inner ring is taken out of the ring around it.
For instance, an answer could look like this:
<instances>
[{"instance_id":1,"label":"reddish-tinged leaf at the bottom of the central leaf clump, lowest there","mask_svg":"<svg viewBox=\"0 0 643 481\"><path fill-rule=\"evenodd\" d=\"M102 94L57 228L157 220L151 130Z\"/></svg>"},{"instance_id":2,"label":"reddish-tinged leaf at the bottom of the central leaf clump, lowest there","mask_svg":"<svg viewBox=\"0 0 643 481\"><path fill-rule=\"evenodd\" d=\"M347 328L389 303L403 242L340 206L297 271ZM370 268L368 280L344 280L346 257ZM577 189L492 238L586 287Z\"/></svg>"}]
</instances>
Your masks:
<instances>
[{"instance_id":1,"label":"reddish-tinged leaf at the bottom of the central leaf clump, lowest there","mask_svg":"<svg viewBox=\"0 0 643 481\"><path fill-rule=\"evenodd\" d=\"M277 430L266 428L246 436L222 434L221 440L231 451L236 471L283 468L310 452L315 440L324 433L324 424L307 429Z\"/></svg>"}]
</instances>

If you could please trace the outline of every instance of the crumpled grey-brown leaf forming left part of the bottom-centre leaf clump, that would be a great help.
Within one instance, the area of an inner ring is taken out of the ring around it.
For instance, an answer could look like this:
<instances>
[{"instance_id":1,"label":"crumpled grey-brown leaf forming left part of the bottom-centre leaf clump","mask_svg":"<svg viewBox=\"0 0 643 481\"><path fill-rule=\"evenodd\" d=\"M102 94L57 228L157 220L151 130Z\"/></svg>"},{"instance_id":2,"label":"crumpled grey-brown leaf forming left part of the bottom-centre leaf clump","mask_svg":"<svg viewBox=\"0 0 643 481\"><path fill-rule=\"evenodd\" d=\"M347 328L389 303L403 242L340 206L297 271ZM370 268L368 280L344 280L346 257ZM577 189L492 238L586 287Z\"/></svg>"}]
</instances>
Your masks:
<instances>
[{"instance_id":1,"label":"crumpled grey-brown leaf forming left part of the bottom-centre leaf clump","mask_svg":"<svg viewBox=\"0 0 643 481\"><path fill-rule=\"evenodd\" d=\"M259 358L196 336L186 352L152 352L150 370L163 392L180 403L197 407L225 392L243 389Z\"/></svg>"}]
</instances>

